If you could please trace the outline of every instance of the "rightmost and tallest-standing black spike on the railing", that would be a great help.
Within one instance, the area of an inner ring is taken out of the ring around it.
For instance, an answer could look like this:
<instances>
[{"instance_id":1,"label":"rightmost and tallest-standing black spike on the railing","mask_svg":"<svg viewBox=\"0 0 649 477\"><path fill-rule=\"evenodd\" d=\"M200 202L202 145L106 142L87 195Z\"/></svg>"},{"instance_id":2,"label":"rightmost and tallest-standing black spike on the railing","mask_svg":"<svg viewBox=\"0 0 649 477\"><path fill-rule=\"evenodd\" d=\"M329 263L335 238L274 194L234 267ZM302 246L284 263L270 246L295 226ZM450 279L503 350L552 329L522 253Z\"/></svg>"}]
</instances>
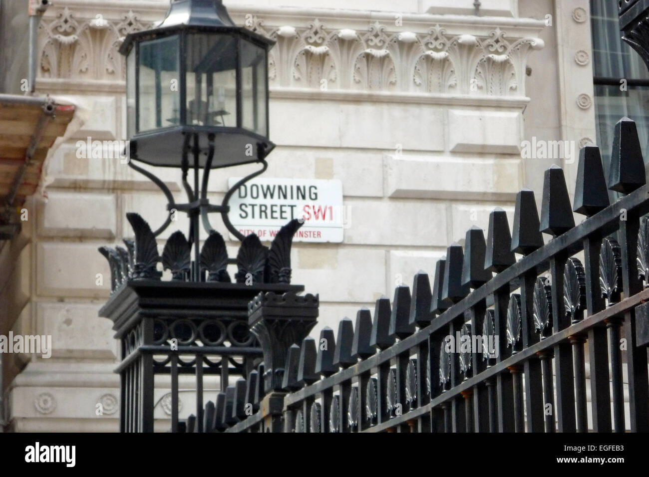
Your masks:
<instances>
[{"instance_id":1,"label":"rightmost and tallest-standing black spike on the railing","mask_svg":"<svg viewBox=\"0 0 649 477\"><path fill-rule=\"evenodd\" d=\"M615 125L608 188L628 194L644 184L644 159L635 121L622 117Z\"/></svg>"}]
</instances>

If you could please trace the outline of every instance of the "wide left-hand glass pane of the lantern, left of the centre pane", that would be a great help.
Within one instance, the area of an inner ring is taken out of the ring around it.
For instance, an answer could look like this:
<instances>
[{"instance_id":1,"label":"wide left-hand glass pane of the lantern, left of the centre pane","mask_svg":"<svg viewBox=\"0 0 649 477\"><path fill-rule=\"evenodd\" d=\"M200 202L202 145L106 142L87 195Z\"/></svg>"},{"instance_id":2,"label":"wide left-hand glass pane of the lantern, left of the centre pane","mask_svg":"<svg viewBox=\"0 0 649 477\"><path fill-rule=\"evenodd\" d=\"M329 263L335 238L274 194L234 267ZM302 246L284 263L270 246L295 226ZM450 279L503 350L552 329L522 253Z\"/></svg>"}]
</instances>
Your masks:
<instances>
[{"instance_id":1,"label":"wide left-hand glass pane of the lantern, left of the centre pane","mask_svg":"<svg viewBox=\"0 0 649 477\"><path fill-rule=\"evenodd\" d=\"M178 36L140 43L139 63L138 131L177 125L180 118Z\"/></svg>"}]
</instances>

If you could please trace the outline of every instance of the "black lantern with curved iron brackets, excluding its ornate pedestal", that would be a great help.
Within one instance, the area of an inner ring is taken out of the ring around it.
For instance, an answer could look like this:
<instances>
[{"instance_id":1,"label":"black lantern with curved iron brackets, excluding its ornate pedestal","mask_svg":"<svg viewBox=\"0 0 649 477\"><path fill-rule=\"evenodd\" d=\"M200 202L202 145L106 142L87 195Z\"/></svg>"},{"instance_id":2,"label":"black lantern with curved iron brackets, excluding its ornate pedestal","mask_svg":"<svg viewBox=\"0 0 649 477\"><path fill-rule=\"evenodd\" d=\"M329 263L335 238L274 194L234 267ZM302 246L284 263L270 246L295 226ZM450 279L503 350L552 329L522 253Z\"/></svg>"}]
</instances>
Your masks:
<instances>
[{"instance_id":1,"label":"black lantern with curved iron brackets, excluding its ornate pedestal","mask_svg":"<svg viewBox=\"0 0 649 477\"><path fill-rule=\"evenodd\" d=\"M243 240L228 219L228 201L241 184L265 171L265 158L275 147L268 138L267 73L274 44L235 25L221 0L172 0L160 25L130 33L119 49L127 58L129 165L162 189L170 211L190 216L195 281L201 276L199 221L212 234L208 214L219 212L228 230ZM188 203L175 204L164 183L133 160L180 167ZM235 184L221 205L210 204L210 170L250 162L260 162L262 169ZM170 223L171 214L154 236Z\"/></svg>"}]
</instances>

